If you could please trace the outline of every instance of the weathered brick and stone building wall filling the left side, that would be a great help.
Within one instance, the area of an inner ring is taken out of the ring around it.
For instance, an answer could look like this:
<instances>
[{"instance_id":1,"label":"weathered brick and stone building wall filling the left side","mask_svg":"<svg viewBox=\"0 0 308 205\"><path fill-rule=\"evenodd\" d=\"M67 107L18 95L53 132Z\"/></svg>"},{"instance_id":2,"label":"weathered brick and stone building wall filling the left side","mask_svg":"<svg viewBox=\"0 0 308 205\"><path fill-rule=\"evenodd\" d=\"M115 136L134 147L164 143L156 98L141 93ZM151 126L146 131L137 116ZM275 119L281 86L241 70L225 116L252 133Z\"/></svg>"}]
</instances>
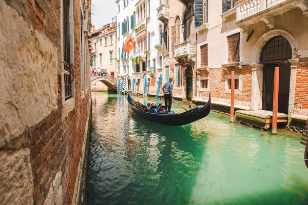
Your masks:
<instances>
[{"instance_id":1,"label":"weathered brick and stone building wall filling the left side","mask_svg":"<svg viewBox=\"0 0 308 205\"><path fill-rule=\"evenodd\" d=\"M0 2L1 204L79 203L90 8L90 0Z\"/></svg>"}]
</instances>

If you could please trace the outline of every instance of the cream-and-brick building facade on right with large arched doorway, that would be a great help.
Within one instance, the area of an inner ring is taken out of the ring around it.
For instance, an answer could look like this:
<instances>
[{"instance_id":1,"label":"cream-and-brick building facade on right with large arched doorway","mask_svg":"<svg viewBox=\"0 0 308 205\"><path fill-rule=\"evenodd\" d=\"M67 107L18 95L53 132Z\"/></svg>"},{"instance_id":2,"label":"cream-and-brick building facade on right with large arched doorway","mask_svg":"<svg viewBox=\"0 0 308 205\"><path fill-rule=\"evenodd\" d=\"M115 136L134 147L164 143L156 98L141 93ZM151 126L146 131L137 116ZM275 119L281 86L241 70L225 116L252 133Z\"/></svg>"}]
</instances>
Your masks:
<instances>
[{"instance_id":1,"label":"cream-and-brick building facade on right with large arched doorway","mask_svg":"<svg viewBox=\"0 0 308 205\"><path fill-rule=\"evenodd\" d=\"M279 67L278 112L307 118L307 6L292 0L204 0L203 25L196 28L195 100L211 92L214 104L230 106L234 70L236 107L272 111L274 68Z\"/></svg>"}]
</instances>

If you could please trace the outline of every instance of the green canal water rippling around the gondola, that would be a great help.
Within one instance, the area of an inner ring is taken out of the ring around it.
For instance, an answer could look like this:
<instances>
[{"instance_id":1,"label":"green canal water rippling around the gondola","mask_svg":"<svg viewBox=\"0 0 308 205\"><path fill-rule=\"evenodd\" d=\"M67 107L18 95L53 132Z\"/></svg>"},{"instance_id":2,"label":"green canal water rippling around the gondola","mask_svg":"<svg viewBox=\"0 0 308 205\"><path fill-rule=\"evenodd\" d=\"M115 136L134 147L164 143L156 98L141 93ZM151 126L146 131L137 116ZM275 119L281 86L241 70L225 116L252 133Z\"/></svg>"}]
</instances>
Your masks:
<instances>
[{"instance_id":1,"label":"green canal water rippling around the gondola","mask_svg":"<svg viewBox=\"0 0 308 205\"><path fill-rule=\"evenodd\" d=\"M217 113L202 119L210 129L169 127L134 115L125 96L92 100L88 204L308 204L300 135Z\"/></svg>"}]
</instances>

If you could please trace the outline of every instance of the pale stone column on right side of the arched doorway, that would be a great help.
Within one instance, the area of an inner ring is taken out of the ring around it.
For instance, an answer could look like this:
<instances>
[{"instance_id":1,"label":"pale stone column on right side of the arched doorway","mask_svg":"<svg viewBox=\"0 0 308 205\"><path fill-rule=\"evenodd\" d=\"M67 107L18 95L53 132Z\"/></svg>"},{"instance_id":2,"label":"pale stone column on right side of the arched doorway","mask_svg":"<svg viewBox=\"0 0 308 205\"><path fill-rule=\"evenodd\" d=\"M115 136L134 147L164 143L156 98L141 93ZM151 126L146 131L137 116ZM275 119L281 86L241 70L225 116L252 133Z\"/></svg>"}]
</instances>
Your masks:
<instances>
[{"instance_id":1,"label":"pale stone column on right side of the arched doorway","mask_svg":"<svg viewBox=\"0 0 308 205\"><path fill-rule=\"evenodd\" d=\"M296 88L296 74L298 58L288 60L291 63L291 75L290 75L290 94L289 94L289 105L288 105L288 116L294 114L294 104L295 104L295 88Z\"/></svg>"}]
</instances>

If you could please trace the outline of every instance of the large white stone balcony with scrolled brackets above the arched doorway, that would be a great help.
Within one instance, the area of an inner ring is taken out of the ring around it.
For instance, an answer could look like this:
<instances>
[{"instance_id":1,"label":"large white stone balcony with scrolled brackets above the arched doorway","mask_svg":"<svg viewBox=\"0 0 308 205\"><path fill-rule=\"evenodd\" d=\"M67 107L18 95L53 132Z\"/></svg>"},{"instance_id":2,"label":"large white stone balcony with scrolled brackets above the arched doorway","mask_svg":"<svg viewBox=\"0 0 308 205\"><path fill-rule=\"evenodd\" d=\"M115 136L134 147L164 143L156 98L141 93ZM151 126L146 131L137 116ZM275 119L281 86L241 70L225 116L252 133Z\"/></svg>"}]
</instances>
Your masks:
<instances>
[{"instance_id":1,"label":"large white stone balcony with scrolled brackets above the arched doorway","mask_svg":"<svg viewBox=\"0 0 308 205\"><path fill-rule=\"evenodd\" d=\"M308 17L307 0L240 0L237 5L235 24L246 35L249 34L249 26L262 20L270 29L274 28L275 16L297 7Z\"/></svg>"}]
</instances>

